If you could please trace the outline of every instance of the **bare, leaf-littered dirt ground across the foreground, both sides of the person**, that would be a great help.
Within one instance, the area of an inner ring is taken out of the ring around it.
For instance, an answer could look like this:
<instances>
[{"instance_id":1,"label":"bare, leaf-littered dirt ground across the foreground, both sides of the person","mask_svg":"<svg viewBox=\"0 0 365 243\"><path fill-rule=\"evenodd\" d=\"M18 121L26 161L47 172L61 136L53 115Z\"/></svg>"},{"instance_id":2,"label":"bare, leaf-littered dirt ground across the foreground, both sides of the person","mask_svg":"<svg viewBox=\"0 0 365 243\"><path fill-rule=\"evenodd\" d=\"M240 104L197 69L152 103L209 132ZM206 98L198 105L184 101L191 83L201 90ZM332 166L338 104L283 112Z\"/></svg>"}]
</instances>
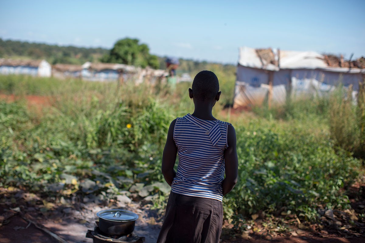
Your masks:
<instances>
[{"instance_id":1,"label":"bare, leaf-littered dirt ground across the foreground, both sides of the person","mask_svg":"<svg viewBox=\"0 0 365 243\"><path fill-rule=\"evenodd\" d=\"M96 203L75 203L72 205L51 204L45 210L47 203L38 195L32 193L0 188L0 215L14 214L0 226L1 243L52 243L59 242L49 232L69 243L91 243L92 239L86 238L88 230L96 226L96 213L110 208L124 208L139 215L134 233L144 236L146 243L155 243L162 224L162 217L157 211L152 210L151 204L131 201L114 205L100 205ZM0 222L2 220L0 216ZM30 223L30 221L32 223ZM37 224L39 229L35 226ZM288 232L274 238L265 234L251 231L246 235L227 233L230 225L223 229L222 243L360 243L365 242L364 235L317 234L313 231L300 231L300 234ZM48 231L48 232L47 232ZM297 231L299 232L299 231Z\"/></svg>"}]
</instances>

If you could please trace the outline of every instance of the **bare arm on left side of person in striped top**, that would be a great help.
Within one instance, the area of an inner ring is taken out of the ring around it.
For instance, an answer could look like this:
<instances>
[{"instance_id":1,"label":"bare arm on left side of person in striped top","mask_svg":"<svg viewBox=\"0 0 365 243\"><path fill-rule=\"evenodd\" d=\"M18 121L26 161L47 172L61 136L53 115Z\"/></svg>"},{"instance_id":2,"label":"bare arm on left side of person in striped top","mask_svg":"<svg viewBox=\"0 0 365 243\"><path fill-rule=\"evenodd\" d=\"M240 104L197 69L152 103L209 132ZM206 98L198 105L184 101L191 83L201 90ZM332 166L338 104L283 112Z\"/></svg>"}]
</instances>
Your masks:
<instances>
[{"instance_id":1,"label":"bare arm on left side of person in striped top","mask_svg":"<svg viewBox=\"0 0 365 243\"><path fill-rule=\"evenodd\" d=\"M174 171L174 165L176 161L177 147L174 141L174 128L175 128L176 119L174 119L169 127L169 132L167 133L166 144L164 148L164 152L162 153L162 166L161 171L164 178L171 186L176 172Z\"/></svg>"}]
</instances>

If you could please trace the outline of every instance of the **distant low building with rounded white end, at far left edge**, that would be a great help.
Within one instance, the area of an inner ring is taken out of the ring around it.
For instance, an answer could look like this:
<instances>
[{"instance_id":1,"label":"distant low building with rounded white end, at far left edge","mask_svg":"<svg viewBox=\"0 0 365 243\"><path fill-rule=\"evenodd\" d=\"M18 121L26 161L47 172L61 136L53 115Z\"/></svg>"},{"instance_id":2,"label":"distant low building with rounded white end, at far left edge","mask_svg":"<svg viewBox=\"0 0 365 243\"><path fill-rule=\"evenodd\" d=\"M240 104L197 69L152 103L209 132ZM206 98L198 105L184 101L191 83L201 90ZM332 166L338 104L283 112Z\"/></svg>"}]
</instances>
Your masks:
<instances>
[{"instance_id":1,"label":"distant low building with rounded white end, at far left edge","mask_svg":"<svg viewBox=\"0 0 365 243\"><path fill-rule=\"evenodd\" d=\"M51 64L46 60L0 59L0 74L24 74L51 77Z\"/></svg>"}]
</instances>

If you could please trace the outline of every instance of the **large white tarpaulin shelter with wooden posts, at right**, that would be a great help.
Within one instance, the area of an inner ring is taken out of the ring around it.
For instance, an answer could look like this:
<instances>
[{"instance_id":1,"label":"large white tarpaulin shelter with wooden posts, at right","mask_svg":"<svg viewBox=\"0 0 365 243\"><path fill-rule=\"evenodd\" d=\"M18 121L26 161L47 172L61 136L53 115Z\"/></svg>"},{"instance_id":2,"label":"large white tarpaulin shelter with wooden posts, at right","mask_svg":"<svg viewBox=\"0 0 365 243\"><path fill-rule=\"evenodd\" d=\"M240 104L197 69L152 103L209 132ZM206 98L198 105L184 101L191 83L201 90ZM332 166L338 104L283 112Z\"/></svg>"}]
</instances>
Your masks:
<instances>
[{"instance_id":1,"label":"large white tarpaulin shelter with wooden posts, at right","mask_svg":"<svg viewBox=\"0 0 365 243\"><path fill-rule=\"evenodd\" d=\"M239 48L233 107L260 105L265 99L283 103L288 95L322 95L339 84L351 85L356 97L364 64L330 58L313 51Z\"/></svg>"}]
</instances>

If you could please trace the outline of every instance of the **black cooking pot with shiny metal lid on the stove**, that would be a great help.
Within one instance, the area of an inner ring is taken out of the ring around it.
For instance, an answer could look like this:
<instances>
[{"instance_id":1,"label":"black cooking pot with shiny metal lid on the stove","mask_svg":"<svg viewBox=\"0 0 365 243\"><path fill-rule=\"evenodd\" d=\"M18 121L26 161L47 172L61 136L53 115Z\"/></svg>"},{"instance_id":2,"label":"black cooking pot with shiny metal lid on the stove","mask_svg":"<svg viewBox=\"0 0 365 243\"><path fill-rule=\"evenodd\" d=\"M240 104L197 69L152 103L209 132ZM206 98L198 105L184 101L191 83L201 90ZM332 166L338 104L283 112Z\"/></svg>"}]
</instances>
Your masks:
<instances>
[{"instance_id":1,"label":"black cooking pot with shiny metal lid on the stove","mask_svg":"<svg viewBox=\"0 0 365 243\"><path fill-rule=\"evenodd\" d=\"M109 209L96 213L99 229L108 235L127 235L134 231L138 215L123 209Z\"/></svg>"}]
</instances>

